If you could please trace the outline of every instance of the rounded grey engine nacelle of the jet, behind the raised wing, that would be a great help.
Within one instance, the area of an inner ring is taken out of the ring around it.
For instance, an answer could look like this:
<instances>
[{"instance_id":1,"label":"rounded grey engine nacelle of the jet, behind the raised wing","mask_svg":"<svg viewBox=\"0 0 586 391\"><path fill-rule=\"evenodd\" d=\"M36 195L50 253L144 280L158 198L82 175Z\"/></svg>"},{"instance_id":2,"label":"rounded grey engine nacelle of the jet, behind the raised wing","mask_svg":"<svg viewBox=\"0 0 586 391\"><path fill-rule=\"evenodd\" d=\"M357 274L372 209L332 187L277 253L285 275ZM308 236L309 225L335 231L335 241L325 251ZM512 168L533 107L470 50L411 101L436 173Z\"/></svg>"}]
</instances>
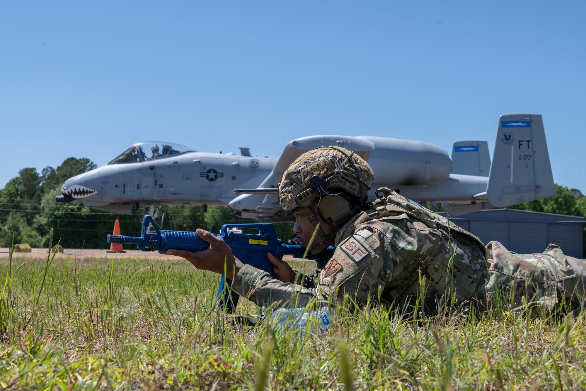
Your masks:
<instances>
[{"instance_id":1,"label":"rounded grey engine nacelle of the jet, behind the raised wing","mask_svg":"<svg viewBox=\"0 0 586 391\"><path fill-rule=\"evenodd\" d=\"M452 159L448 151L425 141L360 136L374 143L368 163L377 183L427 185L449 178Z\"/></svg>"}]
</instances>

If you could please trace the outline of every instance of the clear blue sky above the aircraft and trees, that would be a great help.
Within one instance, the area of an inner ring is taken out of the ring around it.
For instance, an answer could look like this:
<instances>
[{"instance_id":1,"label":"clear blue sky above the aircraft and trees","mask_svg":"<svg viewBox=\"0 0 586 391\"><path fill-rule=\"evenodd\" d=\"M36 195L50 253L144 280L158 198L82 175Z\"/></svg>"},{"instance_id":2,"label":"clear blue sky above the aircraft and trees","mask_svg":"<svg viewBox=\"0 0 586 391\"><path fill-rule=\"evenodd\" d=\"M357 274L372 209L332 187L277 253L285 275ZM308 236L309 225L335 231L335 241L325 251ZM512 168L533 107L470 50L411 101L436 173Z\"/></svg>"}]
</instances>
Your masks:
<instances>
[{"instance_id":1,"label":"clear blue sky above the aircraft and trees","mask_svg":"<svg viewBox=\"0 0 586 391\"><path fill-rule=\"evenodd\" d=\"M166 140L278 157L312 134L495 143L542 114L586 192L585 2L0 1L0 187Z\"/></svg>"}]
</instances>

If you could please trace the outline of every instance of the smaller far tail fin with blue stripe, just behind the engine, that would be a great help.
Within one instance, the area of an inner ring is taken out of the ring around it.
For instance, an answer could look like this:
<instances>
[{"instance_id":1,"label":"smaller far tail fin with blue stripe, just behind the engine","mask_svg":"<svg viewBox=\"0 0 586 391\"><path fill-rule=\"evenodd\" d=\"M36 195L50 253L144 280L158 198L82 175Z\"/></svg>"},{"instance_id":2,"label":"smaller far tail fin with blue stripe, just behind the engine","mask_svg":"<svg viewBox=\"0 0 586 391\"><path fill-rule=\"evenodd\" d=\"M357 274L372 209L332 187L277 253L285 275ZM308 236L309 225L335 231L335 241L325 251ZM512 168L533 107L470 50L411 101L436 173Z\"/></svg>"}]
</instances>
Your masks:
<instances>
[{"instance_id":1,"label":"smaller far tail fin with blue stripe, just behind the engine","mask_svg":"<svg viewBox=\"0 0 586 391\"><path fill-rule=\"evenodd\" d=\"M488 177L490 155L486 141L458 140L452 147L452 174Z\"/></svg>"}]
</instances>

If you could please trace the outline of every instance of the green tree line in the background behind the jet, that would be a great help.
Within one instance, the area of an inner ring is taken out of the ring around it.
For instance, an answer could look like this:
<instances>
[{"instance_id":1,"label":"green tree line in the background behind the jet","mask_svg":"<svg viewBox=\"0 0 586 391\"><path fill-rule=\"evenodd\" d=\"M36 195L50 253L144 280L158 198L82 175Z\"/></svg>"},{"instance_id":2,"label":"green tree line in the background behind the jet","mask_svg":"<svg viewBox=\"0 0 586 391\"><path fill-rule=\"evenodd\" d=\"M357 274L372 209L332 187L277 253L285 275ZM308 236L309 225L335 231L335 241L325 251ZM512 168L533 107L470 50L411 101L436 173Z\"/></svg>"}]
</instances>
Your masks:
<instances>
[{"instance_id":1,"label":"green tree line in the background behind the jet","mask_svg":"<svg viewBox=\"0 0 586 391\"><path fill-rule=\"evenodd\" d=\"M32 247L47 247L49 231L66 248L107 248L105 236L120 221L122 235L137 235L141 230L142 216L149 205L141 205L132 214L112 214L94 210L78 203L56 203L61 186L68 178L96 168L90 159L70 157L57 168L45 167L40 173L36 168L22 168L18 176L0 190L0 247L14 243L27 243ZM431 207L431 205L429 205ZM556 184L556 195L541 200L514 205L510 208L536 212L556 213L586 217L586 197L580 190ZM163 221L163 214L165 215ZM166 205L155 219L164 230L194 231L203 228L219 232L226 223L256 223L240 218L228 207ZM292 223L275 224L277 235L287 242L292 237ZM584 228L586 249L586 227ZM134 248L134 246L129 246Z\"/></svg>"}]
</instances>

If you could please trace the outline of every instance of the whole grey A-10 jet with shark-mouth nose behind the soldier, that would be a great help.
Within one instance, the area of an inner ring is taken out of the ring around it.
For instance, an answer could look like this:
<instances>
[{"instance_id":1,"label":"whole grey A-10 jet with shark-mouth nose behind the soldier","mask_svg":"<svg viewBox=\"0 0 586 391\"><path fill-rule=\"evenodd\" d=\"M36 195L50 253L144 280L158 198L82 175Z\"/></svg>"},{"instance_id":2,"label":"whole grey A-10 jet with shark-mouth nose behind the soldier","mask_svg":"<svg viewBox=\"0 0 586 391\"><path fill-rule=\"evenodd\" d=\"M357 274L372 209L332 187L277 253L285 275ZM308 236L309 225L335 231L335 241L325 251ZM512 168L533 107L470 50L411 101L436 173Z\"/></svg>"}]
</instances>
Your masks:
<instances>
[{"instance_id":1,"label":"whole grey A-10 jet with shark-mouth nose behind the soldier","mask_svg":"<svg viewBox=\"0 0 586 391\"><path fill-rule=\"evenodd\" d=\"M543 121L536 114L500 116L490 162L486 141L459 140L448 151L425 141L321 135L290 141L280 158L206 153L159 141L137 143L110 163L62 186L57 202L130 214L139 205L227 205L241 217L289 221L277 184L299 155L319 146L355 151L374 171L370 197L389 187L418 203L443 203L456 216L556 194Z\"/></svg>"}]
</instances>

